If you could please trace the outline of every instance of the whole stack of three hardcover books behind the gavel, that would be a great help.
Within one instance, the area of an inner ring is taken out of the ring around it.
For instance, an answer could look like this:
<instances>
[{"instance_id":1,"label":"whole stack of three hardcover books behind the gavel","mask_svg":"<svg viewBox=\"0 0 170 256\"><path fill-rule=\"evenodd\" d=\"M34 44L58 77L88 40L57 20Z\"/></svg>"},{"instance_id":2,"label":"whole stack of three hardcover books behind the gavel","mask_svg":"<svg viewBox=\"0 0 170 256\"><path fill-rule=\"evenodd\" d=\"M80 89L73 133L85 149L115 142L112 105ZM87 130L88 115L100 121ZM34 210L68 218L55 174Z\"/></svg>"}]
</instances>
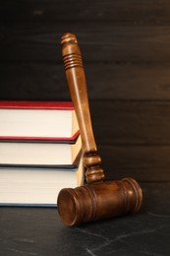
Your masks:
<instances>
[{"instance_id":1,"label":"whole stack of three hardcover books behind the gavel","mask_svg":"<svg viewBox=\"0 0 170 256\"><path fill-rule=\"evenodd\" d=\"M55 206L83 184L81 152L72 102L0 101L0 205Z\"/></svg>"}]
</instances>

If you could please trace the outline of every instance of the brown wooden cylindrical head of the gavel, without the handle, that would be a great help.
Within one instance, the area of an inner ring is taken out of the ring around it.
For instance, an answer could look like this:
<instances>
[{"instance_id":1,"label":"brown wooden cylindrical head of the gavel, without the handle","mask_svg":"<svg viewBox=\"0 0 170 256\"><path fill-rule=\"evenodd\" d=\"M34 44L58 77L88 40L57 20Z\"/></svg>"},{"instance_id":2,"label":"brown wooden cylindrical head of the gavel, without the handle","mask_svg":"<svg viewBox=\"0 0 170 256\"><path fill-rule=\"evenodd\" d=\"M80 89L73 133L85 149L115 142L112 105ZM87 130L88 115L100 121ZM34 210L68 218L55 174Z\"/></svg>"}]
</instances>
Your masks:
<instances>
[{"instance_id":1,"label":"brown wooden cylindrical head of the gavel, without the handle","mask_svg":"<svg viewBox=\"0 0 170 256\"><path fill-rule=\"evenodd\" d=\"M142 189L133 178L86 184L60 191L58 213L67 225L136 213L142 206Z\"/></svg>"}]
</instances>

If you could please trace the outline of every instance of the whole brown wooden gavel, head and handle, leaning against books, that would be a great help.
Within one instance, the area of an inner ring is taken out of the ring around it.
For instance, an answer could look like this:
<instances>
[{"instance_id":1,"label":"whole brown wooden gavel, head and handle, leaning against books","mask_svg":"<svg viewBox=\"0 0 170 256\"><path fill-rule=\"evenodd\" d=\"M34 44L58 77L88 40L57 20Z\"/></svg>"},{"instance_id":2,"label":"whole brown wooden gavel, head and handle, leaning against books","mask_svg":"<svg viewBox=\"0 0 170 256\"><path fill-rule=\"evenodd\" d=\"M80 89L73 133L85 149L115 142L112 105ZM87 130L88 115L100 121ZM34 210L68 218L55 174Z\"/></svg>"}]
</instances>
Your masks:
<instances>
[{"instance_id":1,"label":"whole brown wooden gavel, head and handle, leaning against books","mask_svg":"<svg viewBox=\"0 0 170 256\"><path fill-rule=\"evenodd\" d=\"M64 188L57 200L58 213L67 225L83 224L136 213L142 206L142 189L133 178L104 181L94 141L81 50L75 34L61 38L66 77L75 106L83 143L84 186Z\"/></svg>"}]
</instances>

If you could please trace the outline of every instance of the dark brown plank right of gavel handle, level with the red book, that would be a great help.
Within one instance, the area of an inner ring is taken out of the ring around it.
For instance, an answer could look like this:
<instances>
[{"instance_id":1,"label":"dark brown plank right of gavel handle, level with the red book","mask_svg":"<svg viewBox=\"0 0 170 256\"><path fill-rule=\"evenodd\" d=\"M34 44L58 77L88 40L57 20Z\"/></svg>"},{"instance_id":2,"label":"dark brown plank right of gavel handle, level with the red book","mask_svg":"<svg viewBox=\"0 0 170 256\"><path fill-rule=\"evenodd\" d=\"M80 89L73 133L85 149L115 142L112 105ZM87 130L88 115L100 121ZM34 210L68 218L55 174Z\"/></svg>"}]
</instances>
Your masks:
<instances>
[{"instance_id":1,"label":"dark brown plank right of gavel handle, level with the red book","mask_svg":"<svg viewBox=\"0 0 170 256\"><path fill-rule=\"evenodd\" d=\"M169 145L169 101L91 102L98 144Z\"/></svg>"}]
</instances>

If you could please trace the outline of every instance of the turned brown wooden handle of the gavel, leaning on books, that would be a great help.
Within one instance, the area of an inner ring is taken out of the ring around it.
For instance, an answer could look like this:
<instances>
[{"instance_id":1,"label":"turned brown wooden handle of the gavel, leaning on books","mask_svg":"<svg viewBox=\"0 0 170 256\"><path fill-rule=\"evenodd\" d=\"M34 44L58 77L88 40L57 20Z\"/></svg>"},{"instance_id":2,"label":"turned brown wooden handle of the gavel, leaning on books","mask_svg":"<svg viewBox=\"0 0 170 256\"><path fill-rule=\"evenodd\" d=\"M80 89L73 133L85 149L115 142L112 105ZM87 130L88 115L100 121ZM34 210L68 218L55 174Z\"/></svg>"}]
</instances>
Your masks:
<instances>
[{"instance_id":1,"label":"turned brown wooden handle of the gavel, leaning on books","mask_svg":"<svg viewBox=\"0 0 170 256\"><path fill-rule=\"evenodd\" d=\"M75 106L83 142L85 178L87 183L103 181L105 178L101 159L97 154L86 91L82 54L75 34L66 32L61 38L63 61L70 94Z\"/></svg>"}]
</instances>

